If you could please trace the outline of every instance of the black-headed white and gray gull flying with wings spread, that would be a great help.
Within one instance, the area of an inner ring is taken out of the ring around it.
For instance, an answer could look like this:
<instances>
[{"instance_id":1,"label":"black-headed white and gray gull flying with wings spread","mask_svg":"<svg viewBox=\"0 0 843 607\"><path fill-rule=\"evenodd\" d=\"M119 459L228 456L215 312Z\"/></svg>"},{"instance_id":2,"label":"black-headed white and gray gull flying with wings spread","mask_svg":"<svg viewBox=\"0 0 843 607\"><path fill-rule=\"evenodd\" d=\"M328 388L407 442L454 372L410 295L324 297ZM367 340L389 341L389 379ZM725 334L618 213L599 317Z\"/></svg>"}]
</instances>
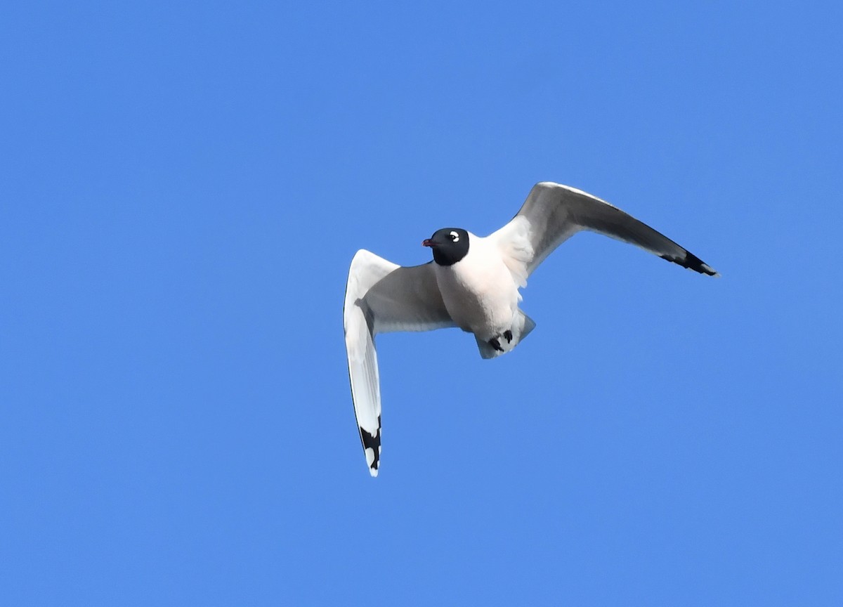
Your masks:
<instances>
[{"instance_id":1,"label":"black-headed white and gray gull flying with wings spread","mask_svg":"<svg viewBox=\"0 0 843 607\"><path fill-rule=\"evenodd\" d=\"M711 266L608 202L567 185L534 185L524 206L486 237L442 228L421 244L433 260L398 266L368 250L352 259L343 325L354 413L369 473L380 465L380 381L375 336L459 327L473 333L483 358L511 352L535 323L518 308L527 278L557 246L581 230L636 244L708 276Z\"/></svg>"}]
</instances>

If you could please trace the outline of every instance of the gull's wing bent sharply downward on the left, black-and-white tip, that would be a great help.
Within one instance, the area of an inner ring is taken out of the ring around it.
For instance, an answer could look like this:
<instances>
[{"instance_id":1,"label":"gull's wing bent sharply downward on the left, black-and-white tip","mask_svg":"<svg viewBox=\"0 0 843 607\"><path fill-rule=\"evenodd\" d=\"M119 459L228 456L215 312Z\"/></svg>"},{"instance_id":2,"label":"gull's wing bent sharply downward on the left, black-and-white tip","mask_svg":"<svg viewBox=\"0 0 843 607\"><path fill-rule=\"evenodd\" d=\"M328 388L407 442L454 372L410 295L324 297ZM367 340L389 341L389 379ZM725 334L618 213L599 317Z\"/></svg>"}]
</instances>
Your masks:
<instances>
[{"instance_id":1,"label":"gull's wing bent sharply downward on the left, black-and-white tip","mask_svg":"<svg viewBox=\"0 0 843 607\"><path fill-rule=\"evenodd\" d=\"M354 415L369 473L380 462L380 381L374 336L399 330L454 326L433 274L432 263L397 266L368 250L358 250L348 270L343 308L348 377Z\"/></svg>"}]
</instances>

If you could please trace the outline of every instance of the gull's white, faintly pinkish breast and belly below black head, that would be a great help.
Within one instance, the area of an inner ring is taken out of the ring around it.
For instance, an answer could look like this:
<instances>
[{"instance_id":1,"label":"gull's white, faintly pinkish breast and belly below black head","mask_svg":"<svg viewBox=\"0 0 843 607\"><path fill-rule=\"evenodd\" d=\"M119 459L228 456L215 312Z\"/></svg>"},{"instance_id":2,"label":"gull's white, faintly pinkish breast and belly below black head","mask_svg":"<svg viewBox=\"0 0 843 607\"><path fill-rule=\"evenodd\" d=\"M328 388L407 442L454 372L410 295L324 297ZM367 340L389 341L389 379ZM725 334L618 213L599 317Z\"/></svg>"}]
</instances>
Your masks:
<instances>
[{"instance_id":1,"label":"gull's white, faintly pinkish breast and belly below black head","mask_svg":"<svg viewBox=\"0 0 843 607\"><path fill-rule=\"evenodd\" d=\"M469 243L468 255L453 266L434 264L436 279L454 322L486 341L512 327L518 285L495 241L469 234Z\"/></svg>"}]
</instances>

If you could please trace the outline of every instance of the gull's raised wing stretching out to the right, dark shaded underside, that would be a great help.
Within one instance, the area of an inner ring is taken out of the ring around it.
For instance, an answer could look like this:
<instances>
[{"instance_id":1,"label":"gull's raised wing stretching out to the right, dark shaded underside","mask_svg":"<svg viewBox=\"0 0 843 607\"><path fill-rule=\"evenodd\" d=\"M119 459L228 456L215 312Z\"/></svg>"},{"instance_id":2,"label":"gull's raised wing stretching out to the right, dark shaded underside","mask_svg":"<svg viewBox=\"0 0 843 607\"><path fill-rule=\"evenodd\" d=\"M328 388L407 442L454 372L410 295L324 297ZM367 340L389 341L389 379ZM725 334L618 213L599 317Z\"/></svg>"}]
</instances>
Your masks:
<instances>
[{"instance_id":1,"label":"gull's raised wing stretching out to the right, dark shaded underside","mask_svg":"<svg viewBox=\"0 0 843 607\"><path fill-rule=\"evenodd\" d=\"M584 191L550 181L534 185L518 215L492 236L504 244L517 243L519 251L529 251L522 257L526 257L525 269L531 274L557 246L580 230L636 244L679 266L717 276L717 271L699 257L646 223Z\"/></svg>"}]
</instances>

